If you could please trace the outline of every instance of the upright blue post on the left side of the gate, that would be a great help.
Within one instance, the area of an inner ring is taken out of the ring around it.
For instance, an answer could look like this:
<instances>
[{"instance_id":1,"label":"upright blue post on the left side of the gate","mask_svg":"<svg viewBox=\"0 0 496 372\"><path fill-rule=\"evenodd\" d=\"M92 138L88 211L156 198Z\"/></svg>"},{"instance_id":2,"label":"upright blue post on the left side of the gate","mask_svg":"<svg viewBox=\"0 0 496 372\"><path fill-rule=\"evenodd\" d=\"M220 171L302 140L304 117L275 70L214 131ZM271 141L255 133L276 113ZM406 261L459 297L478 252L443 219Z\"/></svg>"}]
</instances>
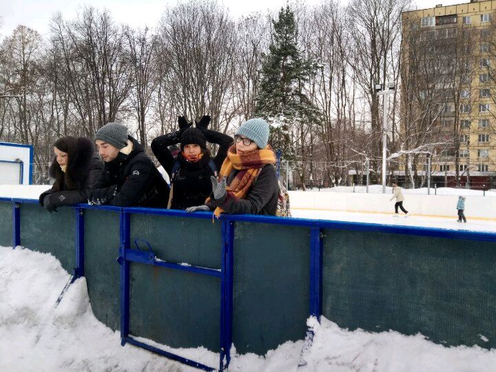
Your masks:
<instances>
[{"instance_id":1,"label":"upright blue post on the left side of the gate","mask_svg":"<svg viewBox=\"0 0 496 372\"><path fill-rule=\"evenodd\" d=\"M129 335L130 313L130 262L125 259L126 249L130 249L130 214L121 212L121 344L124 346Z\"/></svg>"}]
</instances>

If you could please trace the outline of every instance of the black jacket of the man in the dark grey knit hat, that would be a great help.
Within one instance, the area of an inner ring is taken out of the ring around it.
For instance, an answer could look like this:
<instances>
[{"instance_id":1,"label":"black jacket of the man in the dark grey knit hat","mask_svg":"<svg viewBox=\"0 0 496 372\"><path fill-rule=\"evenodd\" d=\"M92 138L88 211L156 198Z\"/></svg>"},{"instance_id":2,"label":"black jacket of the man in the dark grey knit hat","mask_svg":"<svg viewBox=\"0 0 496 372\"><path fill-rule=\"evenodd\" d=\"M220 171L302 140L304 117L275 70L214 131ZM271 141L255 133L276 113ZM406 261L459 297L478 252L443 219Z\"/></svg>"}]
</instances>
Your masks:
<instances>
[{"instance_id":1,"label":"black jacket of the man in the dark grey knit hat","mask_svg":"<svg viewBox=\"0 0 496 372\"><path fill-rule=\"evenodd\" d=\"M131 136L129 155L122 152L105 163L99 180L90 191L88 202L118 207L167 207L169 187L143 147Z\"/></svg>"}]
</instances>

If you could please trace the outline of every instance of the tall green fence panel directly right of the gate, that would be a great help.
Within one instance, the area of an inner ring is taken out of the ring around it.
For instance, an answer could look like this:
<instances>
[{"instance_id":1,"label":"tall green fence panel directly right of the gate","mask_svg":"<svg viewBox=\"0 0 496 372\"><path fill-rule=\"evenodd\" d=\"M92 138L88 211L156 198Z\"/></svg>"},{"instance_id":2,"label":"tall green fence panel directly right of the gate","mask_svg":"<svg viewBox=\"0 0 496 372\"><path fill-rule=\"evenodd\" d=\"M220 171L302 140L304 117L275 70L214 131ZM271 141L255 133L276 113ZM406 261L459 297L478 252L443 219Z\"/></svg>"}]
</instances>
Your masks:
<instances>
[{"instance_id":1,"label":"tall green fence panel directly right of the gate","mask_svg":"<svg viewBox=\"0 0 496 372\"><path fill-rule=\"evenodd\" d=\"M305 337L309 317L310 229L236 223L233 342L264 355Z\"/></svg>"}]
</instances>

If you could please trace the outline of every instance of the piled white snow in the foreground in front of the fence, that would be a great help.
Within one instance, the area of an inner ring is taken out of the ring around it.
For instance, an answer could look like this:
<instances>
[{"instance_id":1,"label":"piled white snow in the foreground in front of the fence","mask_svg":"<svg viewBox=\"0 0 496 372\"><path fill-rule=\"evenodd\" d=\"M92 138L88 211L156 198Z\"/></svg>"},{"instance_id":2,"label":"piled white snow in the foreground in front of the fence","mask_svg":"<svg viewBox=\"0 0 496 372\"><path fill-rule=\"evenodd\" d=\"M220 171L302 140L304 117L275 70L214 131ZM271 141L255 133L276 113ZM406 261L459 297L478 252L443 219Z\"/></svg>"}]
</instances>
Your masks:
<instances>
[{"instance_id":1,"label":"piled white snow in the foreground in front of the fence","mask_svg":"<svg viewBox=\"0 0 496 372\"><path fill-rule=\"evenodd\" d=\"M69 278L53 256L0 247L0 371L197 371L130 345L94 318L84 278L56 298ZM496 349L443 347L422 335L347 331L322 318L298 369L303 341L286 342L265 357L233 353L229 371L463 371L496 370ZM481 335L483 338L484 335ZM187 349L196 360L216 360ZM213 366L216 366L214 364Z\"/></svg>"}]
</instances>

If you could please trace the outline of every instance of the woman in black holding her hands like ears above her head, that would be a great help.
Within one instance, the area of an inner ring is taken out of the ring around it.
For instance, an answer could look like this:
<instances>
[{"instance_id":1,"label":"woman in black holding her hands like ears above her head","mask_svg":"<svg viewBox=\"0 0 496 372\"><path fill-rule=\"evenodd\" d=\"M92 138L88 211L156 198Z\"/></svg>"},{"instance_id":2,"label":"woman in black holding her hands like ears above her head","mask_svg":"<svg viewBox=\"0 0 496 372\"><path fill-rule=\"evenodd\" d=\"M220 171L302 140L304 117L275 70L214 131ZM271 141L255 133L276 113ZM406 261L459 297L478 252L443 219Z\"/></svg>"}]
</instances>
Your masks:
<instances>
[{"instance_id":1,"label":"woman in black holding her hands like ears above her head","mask_svg":"<svg viewBox=\"0 0 496 372\"><path fill-rule=\"evenodd\" d=\"M188 123L184 116L179 116L179 130L152 141L152 151L171 180L170 209L203 204L212 191L210 176L216 176L233 139L209 130L209 123L208 115L204 115L196 127ZM207 149L207 142L219 145L215 157ZM169 146L177 143L180 143L180 152L174 158Z\"/></svg>"}]
</instances>

